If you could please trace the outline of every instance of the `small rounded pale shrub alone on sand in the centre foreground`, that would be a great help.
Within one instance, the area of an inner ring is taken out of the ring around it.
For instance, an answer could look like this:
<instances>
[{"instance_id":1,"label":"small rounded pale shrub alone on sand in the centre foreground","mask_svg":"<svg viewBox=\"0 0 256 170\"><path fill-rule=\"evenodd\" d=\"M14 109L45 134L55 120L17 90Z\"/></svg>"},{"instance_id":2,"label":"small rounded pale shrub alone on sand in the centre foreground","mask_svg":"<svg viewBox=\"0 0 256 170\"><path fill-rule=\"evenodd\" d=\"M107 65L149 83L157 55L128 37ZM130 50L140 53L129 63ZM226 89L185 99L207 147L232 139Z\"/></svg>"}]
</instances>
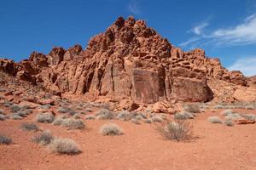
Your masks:
<instances>
[{"instance_id":1,"label":"small rounded pale shrub alone on sand in the centre foreground","mask_svg":"<svg viewBox=\"0 0 256 170\"><path fill-rule=\"evenodd\" d=\"M116 124L108 123L102 125L99 133L103 135L119 135L123 133L123 130Z\"/></svg>"}]
</instances>

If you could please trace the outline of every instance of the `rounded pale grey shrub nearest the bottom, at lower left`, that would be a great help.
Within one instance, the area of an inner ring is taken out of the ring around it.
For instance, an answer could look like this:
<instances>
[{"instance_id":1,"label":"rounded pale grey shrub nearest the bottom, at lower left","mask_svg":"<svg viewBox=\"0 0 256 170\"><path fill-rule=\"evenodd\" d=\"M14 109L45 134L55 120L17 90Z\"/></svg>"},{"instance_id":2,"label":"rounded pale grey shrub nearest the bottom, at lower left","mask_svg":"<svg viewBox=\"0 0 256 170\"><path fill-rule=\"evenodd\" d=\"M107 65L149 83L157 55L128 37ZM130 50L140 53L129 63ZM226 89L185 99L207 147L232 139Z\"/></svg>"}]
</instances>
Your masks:
<instances>
[{"instance_id":1,"label":"rounded pale grey shrub nearest the bottom, at lower left","mask_svg":"<svg viewBox=\"0 0 256 170\"><path fill-rule=\"evenodd\" d=\"M54 139L49 144L49 150L58 154L74 155L79 154L81 150L79 145L73 139Z\"/></svg>"}]
</instances>

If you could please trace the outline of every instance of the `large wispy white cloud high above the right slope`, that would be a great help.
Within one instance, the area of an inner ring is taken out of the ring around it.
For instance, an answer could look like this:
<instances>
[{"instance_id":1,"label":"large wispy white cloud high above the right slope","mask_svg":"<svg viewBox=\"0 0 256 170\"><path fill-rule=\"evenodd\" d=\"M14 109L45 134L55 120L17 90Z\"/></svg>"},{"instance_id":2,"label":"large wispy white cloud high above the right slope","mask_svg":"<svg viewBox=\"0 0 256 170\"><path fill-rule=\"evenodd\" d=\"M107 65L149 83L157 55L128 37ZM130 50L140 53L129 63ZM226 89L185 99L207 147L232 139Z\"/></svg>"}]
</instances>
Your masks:
<instances>
[{"instance_id":1,"label":"large wispy white cloud high above the right slope","mask_svg":"<svg viewBox=\"0 0 256 170\"><path fill-rule=\"evenodd\" d=\"M195 26L192 32L197 39L196 41L182 42L181 46L188 46L191 43L208 43L212 42L213 45L221 46L235 46L235 45L247 45L256 43L256 14L248 16L245 20L242 20L237 26L230 28L220 28L210 33L203 32L203 29L208 26L208 23L204 23L200 26ZM191 38L189 38L191 40Z\"/></svg>"}]
</instances>

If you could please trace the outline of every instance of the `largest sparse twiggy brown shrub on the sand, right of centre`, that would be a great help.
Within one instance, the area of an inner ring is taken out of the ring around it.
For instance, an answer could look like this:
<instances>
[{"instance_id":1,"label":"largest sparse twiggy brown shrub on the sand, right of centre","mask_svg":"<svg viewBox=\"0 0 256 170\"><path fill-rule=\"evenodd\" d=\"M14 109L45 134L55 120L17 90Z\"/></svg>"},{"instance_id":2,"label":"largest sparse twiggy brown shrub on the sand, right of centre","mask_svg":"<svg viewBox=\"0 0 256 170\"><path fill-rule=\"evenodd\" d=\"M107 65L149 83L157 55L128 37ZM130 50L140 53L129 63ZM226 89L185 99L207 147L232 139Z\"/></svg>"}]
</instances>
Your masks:
<instances>
[{"instance_id":1,"label":"largest sparse twiggy brown shrub on the sand, right of centre","mask_svg":"<svg viewBox=\"0 0 256 170\"><path fill-rule=\"evenodd\" d=\"M166 139L186 141L193 138L192 123L187 120L170 120L156 125L158 132Z\"/></svg>"}]
</instances>

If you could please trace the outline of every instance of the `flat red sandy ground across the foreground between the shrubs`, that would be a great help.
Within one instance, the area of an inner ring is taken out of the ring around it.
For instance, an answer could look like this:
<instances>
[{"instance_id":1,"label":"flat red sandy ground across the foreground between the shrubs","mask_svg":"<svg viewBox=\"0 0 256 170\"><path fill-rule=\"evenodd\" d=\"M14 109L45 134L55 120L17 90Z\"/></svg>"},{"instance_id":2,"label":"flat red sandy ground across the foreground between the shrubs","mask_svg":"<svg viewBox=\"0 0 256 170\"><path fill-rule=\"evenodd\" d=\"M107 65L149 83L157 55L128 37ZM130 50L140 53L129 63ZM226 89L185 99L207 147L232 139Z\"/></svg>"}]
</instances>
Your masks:
<instances>
[{"instance_id":1,"label":"flat red sandy ground across the foreground between the shrubs","mask_svg":"<svg viewBox=\"0 0 256 170\"><path fill-rule=\"evenodd\" d=\"M35 114L21 121L3 121L0 133L9 135L15 144L0 145L0 169L256 169L256 124L226 127L207 122L208 116L219 111L196 118L194 132L199 138L189 143L163 139L153 124L92 120L81 131L38 124L55 137L74 139L83 151L77 156L56 155L33 144L36 133L22 131L20 124L32 122ZM106 122L118 124L125 134L102 136L98 130Z\"/></svg>"}]
</instances>

